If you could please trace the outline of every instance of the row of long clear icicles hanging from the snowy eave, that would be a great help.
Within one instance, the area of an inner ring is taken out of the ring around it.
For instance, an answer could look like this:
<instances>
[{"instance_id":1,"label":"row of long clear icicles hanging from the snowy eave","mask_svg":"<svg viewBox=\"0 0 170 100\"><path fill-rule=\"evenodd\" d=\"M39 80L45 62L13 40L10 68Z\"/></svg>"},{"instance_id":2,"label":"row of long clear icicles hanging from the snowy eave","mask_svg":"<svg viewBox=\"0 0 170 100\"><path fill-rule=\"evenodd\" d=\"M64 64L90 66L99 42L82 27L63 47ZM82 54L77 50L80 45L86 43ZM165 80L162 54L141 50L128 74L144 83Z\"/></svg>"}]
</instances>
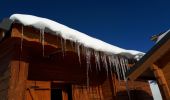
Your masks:
<instances>
[{"instance_id":1,"label":"row of long clear icicles hanging from the snowy eave","mask_svg":"<svg viewBox=\"0 0 170 100\"><path fill-rule=\"evenodd\" d=\"M22 26L22 33L21 33L21 51L22 51L22 46L23 46L23 37L24 37L24 26ZM42 43L42 55L44 56L44 42L45 42L45 37L44 37L44 29L40 29L40 42ZM60 40L61 43L61 49L62 49L62 53L64 56L64 52L66 47L66 39L61 37ZM101 53L99 51L95 51L92 50L90 48L84 47L83 45L81 45L78 42L72 42L72 47L75 48L75 51L77 52L78 55L78 60L79 63L81 65L81 53L85 54L85 58L86 58L86 66L87 66L87 87L89 86L89 70L91 69L91 56L93 55L95 58L95 67L96 70L101 70L101 66L104 67L104 69L107 72L107 76L109 71L111 72L111 75L114 73L116 73L118 80L120 81L121 79L123 79L126 83L127 83L127 79L125 76L125 73L129 70L128 67L128 59L126 59L125 57L121 57L121 56L117 56L115 54L106 54L106 53ZM103 65L101 65L101 63ZM111 69L111 70L109 70ZM128 86L126 87L127 91L128 91L128 95L130 98L130 93L129 93L129 89Z\"/></svg>"}]
</instances>

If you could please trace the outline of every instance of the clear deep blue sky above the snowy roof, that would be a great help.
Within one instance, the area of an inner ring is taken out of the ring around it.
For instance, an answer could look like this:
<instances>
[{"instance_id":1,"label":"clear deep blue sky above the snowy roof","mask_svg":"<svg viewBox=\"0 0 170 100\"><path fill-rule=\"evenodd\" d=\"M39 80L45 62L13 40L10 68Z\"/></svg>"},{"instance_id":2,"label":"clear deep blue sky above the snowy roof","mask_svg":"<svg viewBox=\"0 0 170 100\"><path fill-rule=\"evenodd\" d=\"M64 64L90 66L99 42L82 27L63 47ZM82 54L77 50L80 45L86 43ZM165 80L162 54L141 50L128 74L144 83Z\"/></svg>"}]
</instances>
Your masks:
<instances>
[{"instance_id":1,"label":"clear deep blue sky above the snowy roof","mask_svg":"<svg viewBox=\"0 0 170 100\"><path fill-rule=\"evenodd\" d=\"M13 13L46 17L110 44L148 51L150 37L170 28L170 0L1 0Z\"/></svg>"}]
</instances>

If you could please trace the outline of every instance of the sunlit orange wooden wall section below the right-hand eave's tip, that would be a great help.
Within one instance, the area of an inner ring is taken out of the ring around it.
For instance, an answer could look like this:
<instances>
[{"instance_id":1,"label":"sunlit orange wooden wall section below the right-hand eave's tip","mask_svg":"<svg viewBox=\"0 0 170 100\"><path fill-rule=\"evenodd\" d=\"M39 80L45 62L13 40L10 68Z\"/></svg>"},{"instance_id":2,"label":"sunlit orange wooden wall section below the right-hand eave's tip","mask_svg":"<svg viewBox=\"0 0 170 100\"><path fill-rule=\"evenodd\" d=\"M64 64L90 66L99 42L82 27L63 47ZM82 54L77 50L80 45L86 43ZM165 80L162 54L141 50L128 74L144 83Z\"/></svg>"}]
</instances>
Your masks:
<instances>
[{"instance_id":1,"label":"sunlit orange wooden wall section below the right-hand eave's tip","mask_svg":"<svg viewBox=\"0 0 170 100\"><path fill-rule=\"evenodd\" d=\"M153 100L148 82L128 81L128 89L131 100ZM126 83L116 82L116 100L127 100L129 98Z\"/></svg>"}]
</instances>

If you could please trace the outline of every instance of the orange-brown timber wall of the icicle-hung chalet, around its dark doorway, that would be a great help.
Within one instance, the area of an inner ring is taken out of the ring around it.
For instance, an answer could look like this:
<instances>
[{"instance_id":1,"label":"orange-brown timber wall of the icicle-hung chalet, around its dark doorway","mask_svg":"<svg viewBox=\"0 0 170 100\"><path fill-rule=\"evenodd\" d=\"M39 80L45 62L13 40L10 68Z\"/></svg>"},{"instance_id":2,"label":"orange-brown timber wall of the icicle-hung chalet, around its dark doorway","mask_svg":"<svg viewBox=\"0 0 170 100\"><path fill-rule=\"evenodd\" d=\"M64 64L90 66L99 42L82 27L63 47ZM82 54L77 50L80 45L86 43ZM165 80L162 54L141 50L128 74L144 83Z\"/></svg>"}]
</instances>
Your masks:
<instances>
[{"instance_id":1,"label":"orange-brown timber wall of the icicle-hung chalet, around its dark doorway","mask_svg":"<svg viewBox=\"0 0 170 100\"><path fill-rule=\"evenodd\" d=\"M105 71L89 73L92 84L87 88L86 62L82 61L83 66L80 67L75 53L66 53L65 60L62 58L61 50L60 56L43 57L42 44L36 37L39 34L33 39L30 39L29 36L25 37L26 40L23 41L24 45L21 47L21 28L21 25L18 25L12 30L11 35L15 40L15 42L10 41L13 43L12 46L6 46L7 44L0 46L2 48L0 51L5 51L0 55L0 64L2 65L0 72L3 72L0 76L0 100L1 98L8 100L50 100L51 82L53 81L70 84L73 100L128 100L125 82L118 82L116 76L106 77ZM56 50L57 46L48 45L46 47L45 51L48 53L50 50ZM67 62L67 64L63 62ZM82 83L84 84L82 85ZM137 97L132 96L133 100L139 99L141 95L143 100L152 100L149 98L151 94L148 83L132 82L129 87L149 94L149 96L145 96L141 92ZM135 96L137 94L134 92ZM68 100L66 92L63 92L63 100Z\"/></svg>"}]
</instances>

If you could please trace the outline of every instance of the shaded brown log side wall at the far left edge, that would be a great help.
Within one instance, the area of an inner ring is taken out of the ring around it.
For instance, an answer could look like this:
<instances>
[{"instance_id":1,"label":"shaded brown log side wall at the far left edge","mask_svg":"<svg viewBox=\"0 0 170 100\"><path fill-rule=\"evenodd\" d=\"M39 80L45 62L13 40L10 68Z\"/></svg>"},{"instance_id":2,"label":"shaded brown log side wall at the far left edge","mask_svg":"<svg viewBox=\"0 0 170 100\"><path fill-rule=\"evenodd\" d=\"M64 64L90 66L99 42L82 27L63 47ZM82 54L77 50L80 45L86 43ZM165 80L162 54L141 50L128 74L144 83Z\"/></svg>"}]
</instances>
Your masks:
<instances>
[{"instance_id":1,"label":"shaded brown log side wall at the far left edge","mask_svg":"<svg viewBox=\"0 0 170 100\"><path fill-rule=\"evenodd\" d=\"M1 41L0 44L0 100L8 99L11 78L11 59L14 54L14 42L11 39Z\"/></svg>"}]
</instances>

